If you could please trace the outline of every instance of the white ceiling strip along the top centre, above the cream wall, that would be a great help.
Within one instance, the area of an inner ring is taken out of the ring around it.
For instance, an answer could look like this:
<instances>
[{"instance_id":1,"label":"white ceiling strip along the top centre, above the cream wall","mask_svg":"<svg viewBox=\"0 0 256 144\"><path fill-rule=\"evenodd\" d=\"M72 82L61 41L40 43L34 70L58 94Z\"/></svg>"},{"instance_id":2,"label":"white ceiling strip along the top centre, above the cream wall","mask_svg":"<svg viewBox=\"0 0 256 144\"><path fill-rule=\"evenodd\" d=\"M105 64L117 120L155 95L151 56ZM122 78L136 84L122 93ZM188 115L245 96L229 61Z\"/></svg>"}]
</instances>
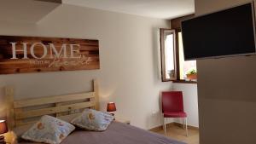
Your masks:
<instances>
[{"instance_id":1,"label":"white ceiling strip along the top centre, above the cream wall","mask_svg":"<svg viewBox=\"0 0 256 144\"><path fill-rule=\"evenodd\" d=\"M62 3L160 19L195 12L194 0L62 0Z\"/></svg>"}]
</instances>

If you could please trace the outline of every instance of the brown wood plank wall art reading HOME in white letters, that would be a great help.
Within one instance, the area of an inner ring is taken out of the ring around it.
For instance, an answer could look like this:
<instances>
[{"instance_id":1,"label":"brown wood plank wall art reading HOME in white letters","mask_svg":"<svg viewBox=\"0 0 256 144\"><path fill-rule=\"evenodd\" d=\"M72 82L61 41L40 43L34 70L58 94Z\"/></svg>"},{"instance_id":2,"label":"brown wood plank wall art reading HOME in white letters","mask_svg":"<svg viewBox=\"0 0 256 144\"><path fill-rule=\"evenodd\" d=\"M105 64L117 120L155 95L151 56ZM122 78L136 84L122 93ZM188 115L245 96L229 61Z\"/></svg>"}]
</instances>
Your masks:
<instances>
[{"instance_id":1,"label":"brown wood plank wall art reading HOME in white letters","mask_svg":"<svg viewBox=\"0 0 256 144\"><path fill-rule=\"evenodd\" d=\"M98 40L0 36L0 74L99 68Z\"/></svg>"}]
</instances>

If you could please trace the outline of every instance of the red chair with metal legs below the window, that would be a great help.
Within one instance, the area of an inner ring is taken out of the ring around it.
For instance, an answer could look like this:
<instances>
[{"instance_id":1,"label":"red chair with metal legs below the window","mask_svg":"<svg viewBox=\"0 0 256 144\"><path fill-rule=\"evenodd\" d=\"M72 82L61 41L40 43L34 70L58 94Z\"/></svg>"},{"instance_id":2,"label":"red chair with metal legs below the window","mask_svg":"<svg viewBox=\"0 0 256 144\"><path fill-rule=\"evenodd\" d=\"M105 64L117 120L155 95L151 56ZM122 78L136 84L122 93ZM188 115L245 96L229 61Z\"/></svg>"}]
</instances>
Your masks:
<instances>
[{"instance_id":1,"label":"red chair with metal legs below the window","mask_svg":"<svg viewBox=\"0 0 256 144\"><path fill-rule=\"evenodd\" d=\"M183 118L186 124L186 135L188 136L187 113L183 108L182 91L164 91L162 92L162 113L164 118L164 130L166 134L166 118Z\"/></svg>"}]
</instances>

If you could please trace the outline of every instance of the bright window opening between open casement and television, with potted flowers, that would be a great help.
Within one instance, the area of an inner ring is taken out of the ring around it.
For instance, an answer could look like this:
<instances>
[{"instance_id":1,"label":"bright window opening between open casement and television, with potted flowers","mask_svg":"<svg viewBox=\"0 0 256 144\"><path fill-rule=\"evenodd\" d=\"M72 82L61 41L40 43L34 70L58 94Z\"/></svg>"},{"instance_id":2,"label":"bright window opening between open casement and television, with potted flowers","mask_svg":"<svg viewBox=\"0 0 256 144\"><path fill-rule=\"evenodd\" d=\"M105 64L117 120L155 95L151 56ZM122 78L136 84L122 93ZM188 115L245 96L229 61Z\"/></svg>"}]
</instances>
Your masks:
<instances>
[{"instance_id":1,"label":"bright window opening between open casement and television, with potted flowers","mask_svg":"<svg viewBox=\"0 0 256 144\"><path fill-rule=\"evenodd\" d=\"M196 79L189 79L191 77L187 77L187 74L196 72L196 60L184 60L182 38L182 32L178 32L179 77L183 80L196 81Z\"/></svg>"}]
</instances>

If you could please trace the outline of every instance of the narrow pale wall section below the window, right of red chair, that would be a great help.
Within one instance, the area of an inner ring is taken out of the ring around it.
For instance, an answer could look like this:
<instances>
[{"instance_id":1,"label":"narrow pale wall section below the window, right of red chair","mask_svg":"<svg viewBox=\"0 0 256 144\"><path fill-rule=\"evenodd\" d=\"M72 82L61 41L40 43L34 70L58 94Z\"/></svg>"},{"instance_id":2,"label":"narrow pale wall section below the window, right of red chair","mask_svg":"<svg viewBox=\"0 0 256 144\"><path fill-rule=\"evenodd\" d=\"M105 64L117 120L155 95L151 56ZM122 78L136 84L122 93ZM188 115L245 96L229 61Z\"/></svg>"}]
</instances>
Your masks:
<instances>
[{"instance_id":1,"label":"narrow pale wall section below the window, right of red chair","mask_svg":"<svg viewBox=\"0 0 256 144\"><path fill-rule=\"evenodd\" d=\"M183 91L184 111L188 115L188 124L199 127L198 124L198 100L197 100L197 84L172 84L172 89ZM175 122L181 123L180 118L176 118Z\"/></svg>"}]
</instances>

